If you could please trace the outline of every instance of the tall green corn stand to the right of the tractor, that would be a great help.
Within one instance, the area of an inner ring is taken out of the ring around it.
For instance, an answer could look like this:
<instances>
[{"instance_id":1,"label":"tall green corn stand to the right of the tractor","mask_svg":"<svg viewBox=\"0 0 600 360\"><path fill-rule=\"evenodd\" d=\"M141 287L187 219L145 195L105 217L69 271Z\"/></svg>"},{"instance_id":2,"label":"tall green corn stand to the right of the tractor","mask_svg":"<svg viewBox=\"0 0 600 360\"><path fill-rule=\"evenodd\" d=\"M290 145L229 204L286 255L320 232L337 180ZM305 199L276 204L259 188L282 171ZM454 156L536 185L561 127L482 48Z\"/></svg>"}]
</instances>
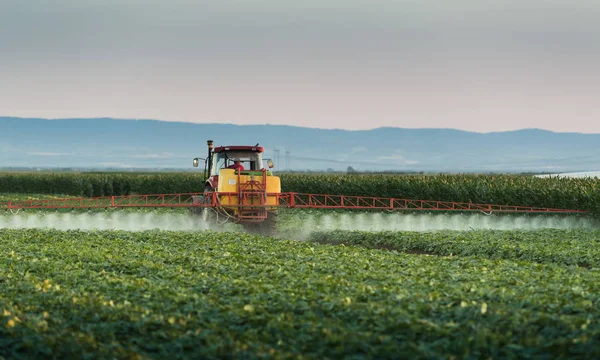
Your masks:
<instances>
[{"instance_id":1,"label":"tall green corn stand to the right of the tractor","mask_svg":"<svg viewBox=\"0 0 600 360\"><path fill-rule=\"evenodd\" d=\"M281 176L283 191L524 205L600 213L599 178L520 175Z\"/></svg>"}]
</instances>

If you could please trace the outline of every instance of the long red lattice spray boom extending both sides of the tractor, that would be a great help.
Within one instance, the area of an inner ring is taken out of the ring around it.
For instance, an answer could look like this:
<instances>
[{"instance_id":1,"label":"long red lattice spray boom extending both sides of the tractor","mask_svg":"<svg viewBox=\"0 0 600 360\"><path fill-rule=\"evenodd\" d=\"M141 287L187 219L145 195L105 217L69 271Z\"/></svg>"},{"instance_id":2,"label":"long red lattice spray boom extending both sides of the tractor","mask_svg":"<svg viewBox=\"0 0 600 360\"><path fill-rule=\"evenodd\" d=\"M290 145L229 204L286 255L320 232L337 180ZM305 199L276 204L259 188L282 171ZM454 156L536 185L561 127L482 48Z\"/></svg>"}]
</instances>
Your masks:
<instances>
[{"instance_id":1,"label":"long red lattice spray boom extending both sides of the tractor","mask_svg":"<svg viewBox=\"0 0 600 360\"><path fill-rule=\"evenodd\" d=\"M240 210L256 210L267 205L251 204L248 199L260 192L260 196L277 197L276 205L268 207L305 209L363 209L363 210L410 210L410 211L480 211L502 213L587 213L585 210L554 209L532 206L472 204L454 201L412 200L369 196L346 196L327 194L302 194L295 192L266 193L262 189L240 192L208 192L186 194L123 195L95 198L70 198L48 200L21 200L0 203L0 210L16 209L100 209L100 208L187 208L227 207ZM210 203L194 203L194 197L204 195ZM239 205L220 205L218 198L237 198Z\"/></svg>"}]
</instances>

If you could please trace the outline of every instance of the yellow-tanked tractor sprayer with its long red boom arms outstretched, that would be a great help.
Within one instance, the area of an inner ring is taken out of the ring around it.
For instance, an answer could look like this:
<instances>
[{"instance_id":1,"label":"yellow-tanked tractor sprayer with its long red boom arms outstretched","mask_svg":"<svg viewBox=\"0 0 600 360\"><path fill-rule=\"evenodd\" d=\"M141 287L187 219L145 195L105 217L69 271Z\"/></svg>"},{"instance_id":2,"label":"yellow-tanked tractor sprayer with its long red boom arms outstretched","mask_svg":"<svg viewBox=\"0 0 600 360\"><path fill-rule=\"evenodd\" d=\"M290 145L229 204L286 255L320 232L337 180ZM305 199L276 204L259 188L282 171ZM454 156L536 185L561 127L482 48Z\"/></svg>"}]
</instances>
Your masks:
<instances>
[{"instance_id":1,"label":"yellow-tanked tractor sprayer with its long red boom arms outstretched","mask_svg":"<svg viewBox=\"0 0 600 360\"><path fill-rule=\"evenodd\" d=\"M531 206L473 204L437 200L413 200L372 196L305 194L282 192L281 182L263 159L264 147L219 146L208 140L208 156L193 159L198 167L204 161L202 192L186 194L141 194L94 198L24 200L0 203L0 209L101 209L101 208L189 208L190 213L209 223L233 222L249 232L272 235L277 229L280 208L354 209L379 211L432 211L483 213L584 214L585 210ZM264 166L264 161L267 167ZM242 164L241 168L232 168Z\"/></svg>"}]
</instances>

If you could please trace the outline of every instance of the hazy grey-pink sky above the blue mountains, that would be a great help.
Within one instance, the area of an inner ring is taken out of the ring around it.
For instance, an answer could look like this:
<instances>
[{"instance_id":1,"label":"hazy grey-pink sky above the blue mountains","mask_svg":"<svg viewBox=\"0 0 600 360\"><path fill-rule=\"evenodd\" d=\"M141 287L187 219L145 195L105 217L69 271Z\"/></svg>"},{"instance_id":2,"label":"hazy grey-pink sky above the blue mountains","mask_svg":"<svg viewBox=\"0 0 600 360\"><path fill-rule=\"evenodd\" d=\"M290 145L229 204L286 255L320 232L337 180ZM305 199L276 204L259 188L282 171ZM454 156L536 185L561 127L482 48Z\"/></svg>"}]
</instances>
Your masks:
<instances>
[{"instance_id":1,"label":"hazy grey-pink sky above the blue mountains","mask_svg":"<svg viewBox=\"0 0 600 360\"><path fill-rule=\"evenodd\" d=\"M600 133L599 19L598 0L0 0L0 116Z\"/></svg>"}]
</instances>

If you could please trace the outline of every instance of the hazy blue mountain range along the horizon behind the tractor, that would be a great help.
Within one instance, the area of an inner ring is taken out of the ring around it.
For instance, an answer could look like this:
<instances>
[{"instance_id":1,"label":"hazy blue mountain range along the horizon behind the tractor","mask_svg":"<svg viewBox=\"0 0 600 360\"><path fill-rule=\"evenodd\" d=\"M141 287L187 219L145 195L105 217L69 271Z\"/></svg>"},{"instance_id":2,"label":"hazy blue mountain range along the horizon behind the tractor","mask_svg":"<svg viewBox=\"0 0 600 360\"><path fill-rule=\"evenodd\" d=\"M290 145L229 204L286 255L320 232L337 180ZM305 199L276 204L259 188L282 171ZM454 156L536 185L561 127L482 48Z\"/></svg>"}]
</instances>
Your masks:
<instances>
[{"instance_id":1,"label":"hazy blue mountain range along the horizon behind the tractor","mask_svg":"<svg viewBox=\"0 0 600 360\"><path fill-rule=\"evenodd\" d=\"M276 169L532 171L600 169L600 134L527 129L324 130L282 125L0 117L0 167L181 168L215 145L266 147ZM278 154L275 152L278 150Z\"/></svg>"}]
</instances>

